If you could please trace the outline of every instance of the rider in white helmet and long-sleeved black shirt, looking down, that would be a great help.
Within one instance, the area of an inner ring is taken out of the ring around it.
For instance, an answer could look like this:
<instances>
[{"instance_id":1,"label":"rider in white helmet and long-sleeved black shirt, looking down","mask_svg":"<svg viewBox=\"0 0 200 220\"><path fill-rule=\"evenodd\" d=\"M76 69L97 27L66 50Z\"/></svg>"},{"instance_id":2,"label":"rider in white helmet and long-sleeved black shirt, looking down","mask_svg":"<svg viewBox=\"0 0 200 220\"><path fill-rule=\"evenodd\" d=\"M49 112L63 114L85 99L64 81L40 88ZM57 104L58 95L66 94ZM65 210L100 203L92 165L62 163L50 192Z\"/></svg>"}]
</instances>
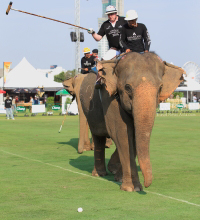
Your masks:
<instances>
[{"instance_id":1,"label":"rider in white helmet and long-sleeved black shirt, looking down","mask_svg":"<svg viewBox=\"0 0 200 220\"><path fill-rule=\"evenodd\" d=\"M135 10L129 10L126 13L127 23L122 27L120 36L120 46L126 53L149 52L151 40L146 26L137 23L138 14Z\"/></svg>"}]
</instances>

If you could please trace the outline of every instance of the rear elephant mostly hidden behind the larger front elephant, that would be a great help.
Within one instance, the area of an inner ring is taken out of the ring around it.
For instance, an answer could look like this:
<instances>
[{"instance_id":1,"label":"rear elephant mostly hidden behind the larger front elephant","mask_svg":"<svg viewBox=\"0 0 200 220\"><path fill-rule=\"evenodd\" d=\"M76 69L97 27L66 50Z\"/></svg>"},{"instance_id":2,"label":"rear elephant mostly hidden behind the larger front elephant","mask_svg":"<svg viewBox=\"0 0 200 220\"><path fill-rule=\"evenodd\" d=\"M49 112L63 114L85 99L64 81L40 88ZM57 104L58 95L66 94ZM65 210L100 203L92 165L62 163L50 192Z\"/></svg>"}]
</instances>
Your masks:
<instances>
[{"instance_id":1,"label":"rear elephant mostly hidden behind the larger front elephant","mask_svg":"<svg viewBox=\"0 0 200 220\"><path fill-rule=\"evenodd\" d=\"M78 153L83 153L83 151L94 150L94 143L90 143L89 139L89 127L87 119L83 113L81 104L80 104L80 86L85 78L85 74L79 74L75 77L65 80L64 86L66 90L73 96L76 97L76 102L79 111L79 142L78 142ZM109 148L112 145L112 140L106 140L106 147Z\"/></svg>"}]
</instances>

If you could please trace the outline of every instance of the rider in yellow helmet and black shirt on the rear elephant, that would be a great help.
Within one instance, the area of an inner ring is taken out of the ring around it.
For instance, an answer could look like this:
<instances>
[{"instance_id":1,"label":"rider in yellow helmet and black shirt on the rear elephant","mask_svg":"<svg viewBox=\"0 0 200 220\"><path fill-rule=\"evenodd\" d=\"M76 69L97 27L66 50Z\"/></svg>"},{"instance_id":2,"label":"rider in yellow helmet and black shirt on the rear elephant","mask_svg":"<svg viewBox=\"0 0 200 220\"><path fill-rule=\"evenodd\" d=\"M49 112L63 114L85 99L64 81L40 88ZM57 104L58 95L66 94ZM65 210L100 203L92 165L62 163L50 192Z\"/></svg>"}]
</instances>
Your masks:
<instances>
[{"instance_id":1,"label":"rider in yellow helmet and black shirt on the rear elephant","mask_svg":"<svg viewBox=\"0 0 200 220\"><path fill-rule=\"evenodd\" d=\"M84 57L81 59L81 73L87 74L95 66L95 57L91 56L90 48L86 47L83 50Z\"/></svg>"}]
</instances>

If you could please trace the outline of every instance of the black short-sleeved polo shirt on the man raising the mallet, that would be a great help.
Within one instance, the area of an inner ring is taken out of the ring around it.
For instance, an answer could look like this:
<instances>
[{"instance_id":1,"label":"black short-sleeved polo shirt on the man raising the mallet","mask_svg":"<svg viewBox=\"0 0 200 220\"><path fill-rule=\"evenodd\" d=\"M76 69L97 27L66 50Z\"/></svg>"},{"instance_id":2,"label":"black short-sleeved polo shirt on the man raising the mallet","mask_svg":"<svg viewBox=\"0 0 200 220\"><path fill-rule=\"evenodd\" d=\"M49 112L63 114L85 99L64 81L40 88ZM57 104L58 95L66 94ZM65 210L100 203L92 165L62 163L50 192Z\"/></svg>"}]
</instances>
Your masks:
<instances>
[{"instance_id":1,"label":"black short-sleeved polo shirt on the man raising the mallet","mask_svg":"<svg viewBox=\"0 0 200 220\"><path fill-rule=\"evenodd\" d=\"M115 47L116 49L120 49L119 45L119 38L120 32L124 24L127 22L124 20L124 17L118 16L118 21L115 24L115 27L112 26L109 20L105 21L99 32L97 34L101 35L102 37L106 35L109 43L109 48Z\"/></svg>"}]
</instances>

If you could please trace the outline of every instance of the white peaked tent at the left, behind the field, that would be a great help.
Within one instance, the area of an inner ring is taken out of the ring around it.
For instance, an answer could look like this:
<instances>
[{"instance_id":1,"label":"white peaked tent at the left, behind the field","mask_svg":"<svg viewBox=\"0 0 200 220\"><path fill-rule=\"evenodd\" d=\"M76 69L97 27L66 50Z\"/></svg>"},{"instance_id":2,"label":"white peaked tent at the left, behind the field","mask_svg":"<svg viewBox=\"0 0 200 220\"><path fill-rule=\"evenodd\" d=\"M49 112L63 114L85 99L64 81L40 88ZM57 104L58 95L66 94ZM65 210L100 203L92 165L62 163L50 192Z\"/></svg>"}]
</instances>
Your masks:
<instances>
[{"instance_id":1,"label":"white peaked tent at the left, behind the field","mask_svg":"<svg viewBox=\"0 0 200 220\"><path fill-rule=\"evenodd\" d=\"M62 83L54 82L39 73L24 57L12 69L6 78L5 89L44 87L46 91L57 91L63 88Z\"/></svg>"}]
</instances>

